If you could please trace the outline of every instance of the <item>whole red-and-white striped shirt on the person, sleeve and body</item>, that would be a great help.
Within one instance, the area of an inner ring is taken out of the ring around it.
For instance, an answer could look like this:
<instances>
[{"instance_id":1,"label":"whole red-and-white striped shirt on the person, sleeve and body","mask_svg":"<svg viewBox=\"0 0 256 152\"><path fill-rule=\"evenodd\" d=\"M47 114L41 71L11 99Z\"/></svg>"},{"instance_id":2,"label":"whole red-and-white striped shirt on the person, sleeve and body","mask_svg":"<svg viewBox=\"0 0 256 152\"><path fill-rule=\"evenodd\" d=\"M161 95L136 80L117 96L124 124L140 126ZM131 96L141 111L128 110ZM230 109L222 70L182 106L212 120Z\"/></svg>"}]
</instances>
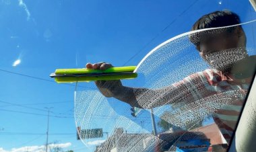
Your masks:
<instances>
[{"instance_id":1,"label":"whole red-and-white striped shirt on the person, sleeve and body","mask_svg":"<svg viewBox=\"0 0 256 152\"><path fill-rule=\"evenodd\" d=\"M184 121L192 124L193 119L200 115L201 118L211 115L226 143L229 143L250 84L251 78L234 80L221 71L206 69L160 89L133 89L137 100L133 106L180 105L178 110L162 117L177 126L180 126L179 122L186 124ZM203 112L207 114L203 115Z\"/></svg>"}]
</instances>

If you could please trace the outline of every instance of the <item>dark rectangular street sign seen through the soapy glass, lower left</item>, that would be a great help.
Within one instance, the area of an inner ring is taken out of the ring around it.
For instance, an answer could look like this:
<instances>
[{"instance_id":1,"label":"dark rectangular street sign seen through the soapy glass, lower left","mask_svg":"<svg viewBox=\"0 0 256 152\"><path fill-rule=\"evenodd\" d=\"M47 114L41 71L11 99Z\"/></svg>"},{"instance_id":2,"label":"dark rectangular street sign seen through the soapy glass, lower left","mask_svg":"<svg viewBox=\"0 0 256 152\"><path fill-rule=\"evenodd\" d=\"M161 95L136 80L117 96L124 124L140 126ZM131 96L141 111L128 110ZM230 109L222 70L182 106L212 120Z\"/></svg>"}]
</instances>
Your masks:
<instances>
[{"instance_id":1,"label":"dark rectangular street sign seen through the soapy glass, lower left","mask_svg":"<svg viewBox=\"0 0 256 152\"><path fill-rule=\"evenodd\" d=\"M101 137L103 137L102 128L81 129L79 126L77 127L77 140Z\"/></svg>"}]
</instances>

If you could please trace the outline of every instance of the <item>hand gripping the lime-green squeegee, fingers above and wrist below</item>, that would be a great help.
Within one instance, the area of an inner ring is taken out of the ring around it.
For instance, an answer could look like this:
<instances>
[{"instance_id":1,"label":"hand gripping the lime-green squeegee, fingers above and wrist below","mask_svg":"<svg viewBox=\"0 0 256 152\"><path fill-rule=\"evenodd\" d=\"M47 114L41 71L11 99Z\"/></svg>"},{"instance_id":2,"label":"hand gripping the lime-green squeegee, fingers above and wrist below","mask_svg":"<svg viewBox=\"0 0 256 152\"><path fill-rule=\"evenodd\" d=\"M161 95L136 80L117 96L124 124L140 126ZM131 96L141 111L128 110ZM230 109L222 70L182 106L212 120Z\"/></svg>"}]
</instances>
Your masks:
<instances>
[{"instance_id":1,"label":"hand gripping the lime-green squeegee, fingers above and wrist below","mask_svg":"<svg viewBox=\"0 0 256 152\"><path fill-rule=\"evenodd\" d=\"M86 68L87 69L99 69L99 70L105 70L110 67L113 67L110 63L87 63ZM113 97L115 95L115 92L117 92L123 85L120 80L109 80L109 81L95 81L96 86L104 95L105 97Z\"/></svg>"}]
</instances>

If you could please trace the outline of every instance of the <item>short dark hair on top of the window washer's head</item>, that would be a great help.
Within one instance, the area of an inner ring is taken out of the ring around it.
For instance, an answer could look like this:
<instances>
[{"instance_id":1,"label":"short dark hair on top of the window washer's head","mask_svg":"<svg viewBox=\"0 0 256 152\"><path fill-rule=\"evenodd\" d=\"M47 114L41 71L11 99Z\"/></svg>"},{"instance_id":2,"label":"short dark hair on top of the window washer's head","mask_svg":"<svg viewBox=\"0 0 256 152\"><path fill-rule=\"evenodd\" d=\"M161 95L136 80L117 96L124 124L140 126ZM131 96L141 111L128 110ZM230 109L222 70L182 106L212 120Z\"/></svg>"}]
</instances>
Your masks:
<instances>
[{"instance_id":1,"label":"short dark hair on top of the window washer's head","mask_svg":"<svg viewBox=\"0 0 256 152\"><path fill-rule=\"evenodd\" d=\"M240 17L236 13L228 10L214 11L200 17L199 20L197 20L197 22L195 22L195 24L192 26L191 31L201 30L204 28L232 26L236 24L241 24ZM228 28L227 30L228 32L232 32L234 27ZM193 44L198 45L200 39L199 37L199 34L191 34L189 39L191 42L193 42Z\"/></svg>"}]
</instances>

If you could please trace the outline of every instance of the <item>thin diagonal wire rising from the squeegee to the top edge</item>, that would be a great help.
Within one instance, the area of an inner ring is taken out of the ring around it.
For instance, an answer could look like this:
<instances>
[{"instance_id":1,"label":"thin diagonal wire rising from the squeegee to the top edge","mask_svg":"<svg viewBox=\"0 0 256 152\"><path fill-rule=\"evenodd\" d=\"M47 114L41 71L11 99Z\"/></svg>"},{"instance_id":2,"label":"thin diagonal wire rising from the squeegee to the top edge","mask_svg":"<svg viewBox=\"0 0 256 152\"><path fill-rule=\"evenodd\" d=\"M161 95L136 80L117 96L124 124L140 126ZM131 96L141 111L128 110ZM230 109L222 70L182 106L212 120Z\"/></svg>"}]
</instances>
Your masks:
<instances>
[{"instance_id":1,"label":"thin diagonal wire rising from the squeegee to the top edge","mask_svg":"<svg viewBox=\"0 0 256 152\"><path fill-rule=\"evenodd\" d=\"M139 52L141 52L144 48L146 48L149 44L151 44L160 34L162 34L162 32L164 32L167 28L169 28L174 22L176 22L176 20L181 17L181 15L183 15L184 13L186 13L191 7L193 7L193 5L195 5L195 3L197 3L197 1L199 0L195 0L191 5L189 5L189 7L187 7L187 9L185 9L183 12L181 12L176 18L174 18L174 20L172 20L172 22L170 22L170 24L168 24L161 32L158 32L158 34L156 34L156 36L154 36L146 45L144 45L141 49L139 49L138 52L136 52L133 56L131 56L130 59L128 59L128 61L126 61L123 66L125 66L127 63L129 63L129 61L131 61L135 56L137 56L137 54L139 54Z\"/></svg>"}]
</instances>

